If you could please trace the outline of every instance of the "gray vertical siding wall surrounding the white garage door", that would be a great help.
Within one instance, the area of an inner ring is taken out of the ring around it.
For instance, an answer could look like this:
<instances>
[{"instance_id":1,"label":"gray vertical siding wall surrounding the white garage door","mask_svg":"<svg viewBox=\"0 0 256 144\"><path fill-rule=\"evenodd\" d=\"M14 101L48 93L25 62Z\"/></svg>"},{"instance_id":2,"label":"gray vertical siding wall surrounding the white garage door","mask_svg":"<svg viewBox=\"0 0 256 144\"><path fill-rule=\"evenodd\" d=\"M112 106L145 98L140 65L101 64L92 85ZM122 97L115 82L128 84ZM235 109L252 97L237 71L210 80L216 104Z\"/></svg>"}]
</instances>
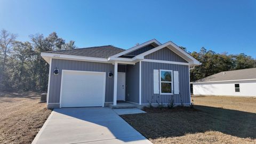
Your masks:
<instances>
[{"instance_id":1,"label":"gray vertical siding wall surrounding the white garage door","mask_svg":"<svg viewBox=\"0 0 256 144\"><path fill-rule=\"evenodd\" d=\"M56 67L59 69L59 75L53 75L53 71ZM60 102L62 69L106 72L105 101L113 102L114 77L108 77L108 73L114 73L114 65L112 65L111 63L52 59L49 103Z\"/></svg>"}]
</instances>

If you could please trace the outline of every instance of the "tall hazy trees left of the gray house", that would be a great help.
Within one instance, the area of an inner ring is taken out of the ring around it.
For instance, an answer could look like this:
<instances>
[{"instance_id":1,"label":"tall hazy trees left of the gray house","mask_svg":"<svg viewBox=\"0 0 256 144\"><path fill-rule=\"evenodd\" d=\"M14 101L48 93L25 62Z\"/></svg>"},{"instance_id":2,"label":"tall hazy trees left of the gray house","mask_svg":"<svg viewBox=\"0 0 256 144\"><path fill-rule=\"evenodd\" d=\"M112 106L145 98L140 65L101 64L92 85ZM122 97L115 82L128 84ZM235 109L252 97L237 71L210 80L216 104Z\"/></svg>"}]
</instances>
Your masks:
<instances>
[{"instance_id":1,"label":"tall hazy trees left of the gray house","mask_svg":"<svg viewBox=\"0 0 256 144\"><path fill-rule=\"evenodd\" d=\"M30 35L30 41L20 42L17 35L6 30L0 33L0 90L47 91L49 65L41 52L75 49L75 42L65 42L53 32Z\"/></svg>"}]
</instances>

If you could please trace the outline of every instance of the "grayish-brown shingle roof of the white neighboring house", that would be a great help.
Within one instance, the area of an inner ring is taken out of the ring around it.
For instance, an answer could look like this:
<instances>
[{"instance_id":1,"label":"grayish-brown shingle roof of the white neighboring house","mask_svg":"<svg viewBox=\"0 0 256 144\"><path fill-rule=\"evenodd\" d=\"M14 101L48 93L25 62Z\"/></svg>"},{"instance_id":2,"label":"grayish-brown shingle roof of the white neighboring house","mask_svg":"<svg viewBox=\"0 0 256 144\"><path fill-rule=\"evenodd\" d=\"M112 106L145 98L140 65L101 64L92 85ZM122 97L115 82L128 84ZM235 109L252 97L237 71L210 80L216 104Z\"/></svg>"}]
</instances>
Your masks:
<instances>
[{"instance_id":1,"label":"grayish-brown shingle roof of the white neighboring house","mask_svg":"<svg viewBox=\"0 0 256 144\"><path fill-rule=\"evenodd\" d=\"M202 79L199 79L193 83L208 83L208 82L221 82L221 81L239 81L256 79L256 68L239 69L222 71L218 74L214 74Z\"/></svg>"}]
</instances>

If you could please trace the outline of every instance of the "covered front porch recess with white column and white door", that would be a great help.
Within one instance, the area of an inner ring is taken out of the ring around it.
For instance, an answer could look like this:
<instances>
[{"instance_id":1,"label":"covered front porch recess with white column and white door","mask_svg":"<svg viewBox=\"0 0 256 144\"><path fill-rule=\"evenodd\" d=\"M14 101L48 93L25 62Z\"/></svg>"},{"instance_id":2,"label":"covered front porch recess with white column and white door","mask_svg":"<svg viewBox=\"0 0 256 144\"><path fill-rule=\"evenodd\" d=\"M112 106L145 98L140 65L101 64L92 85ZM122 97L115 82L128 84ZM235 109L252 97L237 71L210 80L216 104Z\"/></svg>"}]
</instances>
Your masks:
<instances>
[{"instance_id":1,"label":"covered front porch recess with white column and white door","mask_svg":"<svg viewBox=\"0 0 256 144\"><path fill-rule=\"evenodd\" d=\"M114 64L113 103L110 108L135 108L139 105L140 62Z\"/></svg>"}]
</instances>

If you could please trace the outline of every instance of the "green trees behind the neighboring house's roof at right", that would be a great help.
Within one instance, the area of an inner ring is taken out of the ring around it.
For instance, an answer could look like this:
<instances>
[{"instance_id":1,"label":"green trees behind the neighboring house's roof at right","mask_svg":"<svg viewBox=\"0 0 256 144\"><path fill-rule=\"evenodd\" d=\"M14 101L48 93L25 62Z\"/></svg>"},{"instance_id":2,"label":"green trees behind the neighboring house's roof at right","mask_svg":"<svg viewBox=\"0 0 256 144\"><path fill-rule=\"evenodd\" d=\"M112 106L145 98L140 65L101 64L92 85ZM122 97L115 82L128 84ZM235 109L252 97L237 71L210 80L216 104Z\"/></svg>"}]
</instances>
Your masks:
<instances>
[{"instance_id":1,"label":"green trees behind the neighboring house's roof at right","mask_svg":"<svg viewBox=\"0 0 256 144\"><path fill-rule=\"evenodd\" d=\"M214 51L206 50L205 47L202 47L199 52L194 51L190 54L202 63L202 65L196 66L194 69L190 70L191 82L220 73L221 71L256 67L256 59L244 53L215 53Z\"/></svg>"}]
</instances>

